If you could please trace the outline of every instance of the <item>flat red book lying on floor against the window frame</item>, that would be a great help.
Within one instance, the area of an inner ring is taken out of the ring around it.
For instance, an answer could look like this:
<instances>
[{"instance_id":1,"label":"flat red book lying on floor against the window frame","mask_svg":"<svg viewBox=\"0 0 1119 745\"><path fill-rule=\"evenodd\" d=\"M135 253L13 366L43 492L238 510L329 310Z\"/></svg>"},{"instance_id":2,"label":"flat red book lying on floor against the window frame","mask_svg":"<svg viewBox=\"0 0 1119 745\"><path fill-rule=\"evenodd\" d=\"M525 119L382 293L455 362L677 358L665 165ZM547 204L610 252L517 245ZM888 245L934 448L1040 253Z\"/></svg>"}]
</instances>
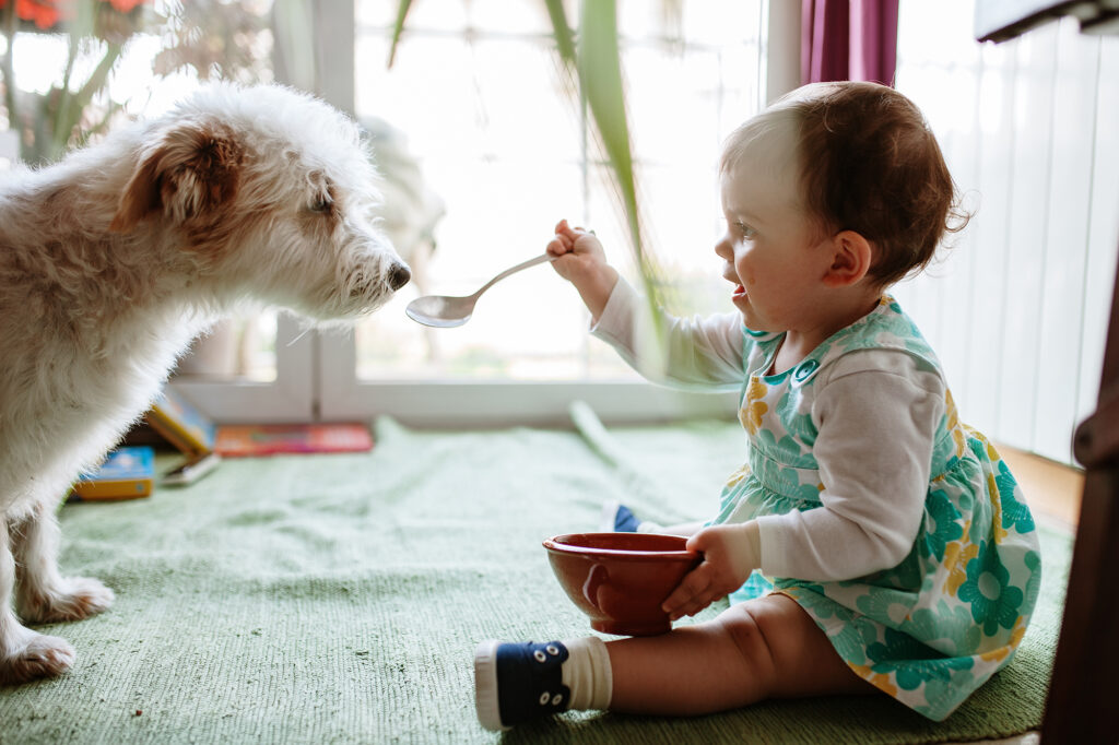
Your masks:
<instances>
[{"instance_id":1,"label":"flat red book lying on floor against the window frame","mask_svg":"<svg viewBox=\"0 0 1119 745\"><path fill-rule=\"evenodd\" d=\"M251 424L217 428L214 445L223 456L279 453L361 453L373 449L365 424Z\"/></svg>"}]
</instances>

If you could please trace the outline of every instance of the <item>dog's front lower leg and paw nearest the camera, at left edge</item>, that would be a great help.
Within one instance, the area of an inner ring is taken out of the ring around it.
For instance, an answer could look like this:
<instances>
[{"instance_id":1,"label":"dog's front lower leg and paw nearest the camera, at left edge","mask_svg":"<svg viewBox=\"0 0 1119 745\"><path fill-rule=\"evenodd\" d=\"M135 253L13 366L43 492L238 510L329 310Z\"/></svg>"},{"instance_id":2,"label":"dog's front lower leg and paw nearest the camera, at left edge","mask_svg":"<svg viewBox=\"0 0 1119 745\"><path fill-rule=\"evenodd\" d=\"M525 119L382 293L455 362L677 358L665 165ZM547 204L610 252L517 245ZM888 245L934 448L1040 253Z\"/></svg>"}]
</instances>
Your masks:
<instances>
[{"instance_id":1,"label":"dog's front lower leg and paw nearest the camera, at left edge","mask_svg":"<svg viewBox=\"0 0 1119 745\"><path fill-rule=\"evenodd\" d=\"M57 676L74 663L74 648L65 639L23 626L12 609L16 560L11 526L0 517L0 685Z\"/></svg>"}]
</instances>

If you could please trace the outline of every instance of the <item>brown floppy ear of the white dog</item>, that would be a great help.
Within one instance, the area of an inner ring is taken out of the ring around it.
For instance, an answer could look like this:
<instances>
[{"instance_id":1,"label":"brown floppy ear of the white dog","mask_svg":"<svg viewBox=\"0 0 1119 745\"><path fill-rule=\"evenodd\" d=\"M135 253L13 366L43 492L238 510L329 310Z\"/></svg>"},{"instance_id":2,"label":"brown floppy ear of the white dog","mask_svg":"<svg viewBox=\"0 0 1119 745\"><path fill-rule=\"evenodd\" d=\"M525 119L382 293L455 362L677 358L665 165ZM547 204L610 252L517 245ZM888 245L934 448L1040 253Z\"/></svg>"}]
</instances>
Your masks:
<instances>
[{"instance_id":1,"label":"brown floppy ear of the white dog","mask_svg":"<svg viewBox=\"0 0 1119 745\"><path fill-rule=\"evenodd\" d=\"M213 218L237 194L244 148L213 124L182 124L143 153L109 228L128 233L154 214L185 225Z\"/></svg>"}]
</instances>

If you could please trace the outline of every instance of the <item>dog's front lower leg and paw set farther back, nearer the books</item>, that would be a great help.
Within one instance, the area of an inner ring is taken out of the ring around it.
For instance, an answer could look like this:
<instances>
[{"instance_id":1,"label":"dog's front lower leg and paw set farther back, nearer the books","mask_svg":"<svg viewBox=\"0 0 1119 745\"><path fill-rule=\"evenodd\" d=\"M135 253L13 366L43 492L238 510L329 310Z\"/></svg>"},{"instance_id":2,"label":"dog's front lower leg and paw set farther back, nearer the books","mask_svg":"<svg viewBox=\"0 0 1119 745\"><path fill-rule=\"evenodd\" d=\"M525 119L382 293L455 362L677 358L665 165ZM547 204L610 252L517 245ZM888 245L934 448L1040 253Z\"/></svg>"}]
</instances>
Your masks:
<instances>
[{"instance_id":1,"label":"dog's front lower leg and paw set farther back, nearer the books","mask_svg":"<svg viewBox=\"0 0 1119 745\"><path fill-rule=\"evenodd\" d=\"M97 579L58 573L59 530L53 508L39 502L30 517L11 530L16 607L30 623L81 621L113 603L113 591Z\"/></svg>"}]
</instances>

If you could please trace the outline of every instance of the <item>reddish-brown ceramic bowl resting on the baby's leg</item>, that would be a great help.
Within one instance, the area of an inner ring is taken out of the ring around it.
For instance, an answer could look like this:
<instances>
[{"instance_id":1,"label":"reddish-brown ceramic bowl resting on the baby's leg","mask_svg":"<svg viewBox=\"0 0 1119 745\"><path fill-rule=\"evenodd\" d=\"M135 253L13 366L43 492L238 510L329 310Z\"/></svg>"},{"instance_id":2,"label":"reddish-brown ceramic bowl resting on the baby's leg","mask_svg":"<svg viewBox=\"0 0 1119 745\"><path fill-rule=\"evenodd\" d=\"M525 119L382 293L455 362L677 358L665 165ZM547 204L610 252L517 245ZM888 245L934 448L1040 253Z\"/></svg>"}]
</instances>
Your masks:
<instances>
[{"instance_id":1,"label":"reddish-brown ceramic bowl resting on the baby's leg","mask_svg":"<svg viewBox=\"0 0 1119 745\"><path fill-rule=\"evenodd\" d=\"M649 532L577 532L544 541L567 596L608 634L651 636L671 629L660 610L702 557L686 538Z\"/></svg>"}]
</instances>

